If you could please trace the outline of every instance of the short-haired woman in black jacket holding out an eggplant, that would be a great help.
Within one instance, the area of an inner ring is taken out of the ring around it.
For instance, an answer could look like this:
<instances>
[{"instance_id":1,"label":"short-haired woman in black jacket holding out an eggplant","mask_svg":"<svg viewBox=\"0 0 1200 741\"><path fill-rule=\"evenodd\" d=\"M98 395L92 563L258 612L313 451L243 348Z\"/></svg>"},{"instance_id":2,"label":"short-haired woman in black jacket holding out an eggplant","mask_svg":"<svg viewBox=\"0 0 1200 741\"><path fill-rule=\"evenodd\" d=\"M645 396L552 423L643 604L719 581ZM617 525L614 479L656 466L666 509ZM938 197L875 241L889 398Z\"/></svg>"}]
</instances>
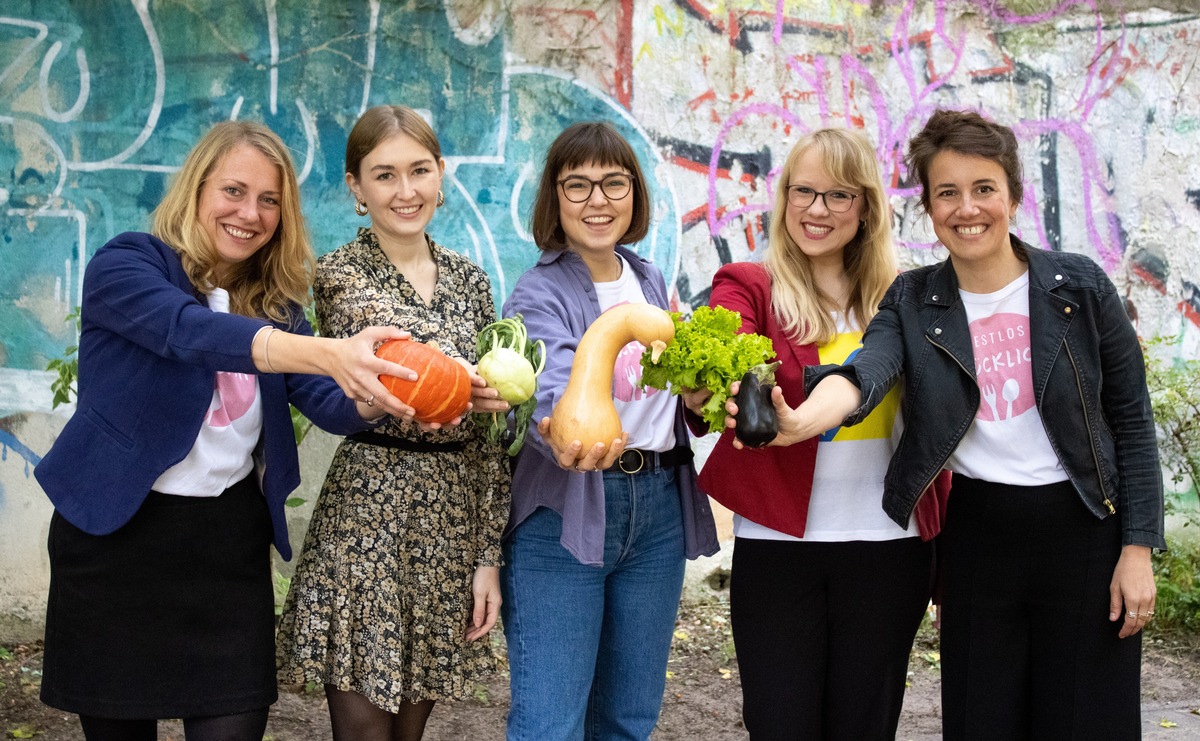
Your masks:
<instances>
[{"instance_id":1,"label":"short-haired woman in black jacket holding out an eggplant","mask_svg":"<svg viewBox=\"0 0 1200 741\"><path fill-rule=\"evenodd\" d=\"M1136 739L1163 482L1141 347L1079 254L1009 233L1016 138L938 110L908 144L946 261L896 278L847 366L778 398L780 435L856 424L904 384L883 508L953 472L942 604L946 739Z\"/></svg>"}]
</instances>

